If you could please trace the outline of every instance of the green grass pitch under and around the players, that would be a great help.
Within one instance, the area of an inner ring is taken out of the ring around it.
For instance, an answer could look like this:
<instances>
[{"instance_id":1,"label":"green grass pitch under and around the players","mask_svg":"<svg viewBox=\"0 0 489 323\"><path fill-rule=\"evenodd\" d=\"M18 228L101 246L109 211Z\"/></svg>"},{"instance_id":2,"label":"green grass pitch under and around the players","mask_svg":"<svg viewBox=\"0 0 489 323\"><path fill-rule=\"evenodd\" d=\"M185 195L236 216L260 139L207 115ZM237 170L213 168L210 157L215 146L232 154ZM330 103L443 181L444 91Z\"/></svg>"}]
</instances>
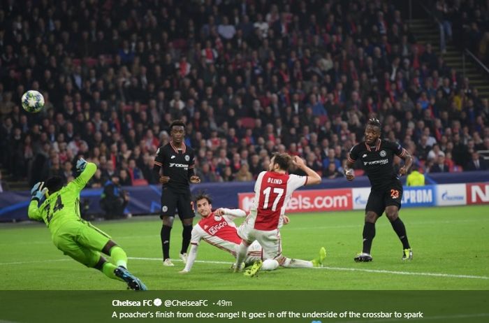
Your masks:
<instances>
[{"instance_id":1,"label":"green grass pitch under and around the players","mask_svg":"<svg viewBox=\"0 0 489 323\"><path fill-rule=\"evenodd\" d=\"M108 232L129 257L147 258L130 259L129 269L149 289L489 289L488 206L404 208L400 216L414 250L413 261L401 261L402 246L385 216L377 222L374 261L356 264L353 257L361 250L362 211L292 214L291 223L282 229L284 254L312 259L325 246L328 268L279 268L258 278L231 273L231 255L204 242L198 260L229 264L197 262L185 275L178 273L181 261L174 261L175 267L163 267L161 221L155 216L94 224ZM174 259L181 232L180 222L175 221L170 250ZM3 224L0 250L1 289L125 288L122 282L61 254L43 224Z\"/></svg>"}]
</instances>

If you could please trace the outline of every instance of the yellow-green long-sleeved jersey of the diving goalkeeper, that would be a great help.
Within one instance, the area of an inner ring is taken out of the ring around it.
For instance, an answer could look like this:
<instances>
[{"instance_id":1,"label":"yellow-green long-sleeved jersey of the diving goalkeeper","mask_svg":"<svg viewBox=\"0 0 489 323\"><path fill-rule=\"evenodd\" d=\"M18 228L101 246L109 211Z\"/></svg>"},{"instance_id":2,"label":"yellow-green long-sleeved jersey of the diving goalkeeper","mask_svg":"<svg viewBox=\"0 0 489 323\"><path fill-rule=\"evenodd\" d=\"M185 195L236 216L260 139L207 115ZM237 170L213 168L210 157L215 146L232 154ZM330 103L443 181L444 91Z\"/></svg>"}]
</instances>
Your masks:
<instances>
[{"instance_id":1,"label":"yellow-green long-sleeved jersey of the diving goalkeeper","mask_svg":"<svg viewBox=\"0 0 489 323\"><path fill-rule=\"evenodd\" d=\"M55 234L66 222L80 221L80 192L92 178L96 169L96 164L87 163L85 170L75 180L69 182L58 192L49 194L49 197L40 206L37 200L31 201L29 218L43 220L51 234Z\"/></svg>"}]
</instances>

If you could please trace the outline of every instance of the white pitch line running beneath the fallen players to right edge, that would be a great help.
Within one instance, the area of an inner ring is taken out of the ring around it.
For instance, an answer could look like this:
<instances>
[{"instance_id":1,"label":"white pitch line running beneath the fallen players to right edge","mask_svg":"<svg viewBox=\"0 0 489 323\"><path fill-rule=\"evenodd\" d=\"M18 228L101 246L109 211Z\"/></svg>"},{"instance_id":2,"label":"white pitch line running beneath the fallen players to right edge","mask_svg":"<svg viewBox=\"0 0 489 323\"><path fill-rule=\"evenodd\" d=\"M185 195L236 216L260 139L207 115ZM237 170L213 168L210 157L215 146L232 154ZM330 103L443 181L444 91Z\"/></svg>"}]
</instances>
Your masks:
<instances>
[{"instance_id":1,"label":"white pitch line running beneath the fallen players to right edge","mask_svg":"<svg viewBox=\"0 0 489 323\"><path fill-rule=\"evenodd\" d=\"M129 257L133 260L151 260L151 261L163 261L161 258L145 258L145 257ZM181 259L171 259L172 261L182 261ZM229 261L207 261L196 260L203 264L233 264ZM381 269L362 269L362 268L342 268L342 267L319 267L312 269L326 269L330 271L363 271L366 273L391 273L393 275L414 275L414 276L431 276L431 277L444 277L444 278L471 278L471 279L483 279L489 280L488 276L475 276L475 275L455 275L451 273L416 273L411 271L384 271Z\"/></svg>"}]
</instances>

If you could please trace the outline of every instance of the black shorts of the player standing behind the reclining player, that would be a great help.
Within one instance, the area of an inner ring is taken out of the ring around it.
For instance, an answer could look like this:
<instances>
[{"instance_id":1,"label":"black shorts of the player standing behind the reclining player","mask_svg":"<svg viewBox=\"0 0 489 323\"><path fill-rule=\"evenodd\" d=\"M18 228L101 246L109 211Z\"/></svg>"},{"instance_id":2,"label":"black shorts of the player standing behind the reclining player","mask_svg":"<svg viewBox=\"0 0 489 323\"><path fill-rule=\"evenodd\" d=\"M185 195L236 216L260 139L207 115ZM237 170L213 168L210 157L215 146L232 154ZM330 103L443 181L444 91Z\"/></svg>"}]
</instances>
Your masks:
<instances>
[{"instance_id":1,"label":"black shorts of the player standing behind the reclining player","mask_svg":"<svg viewBox=\"0 0 489 323\"><path fill-rule=\"evenodd\" d=\"M190 192L173 192L168 187L163 187L161 191L161 215L160 217L175 217L175 209L178 209L180 219L190 219L195 217L194 202Z\"/></svg>"}]
</instances>

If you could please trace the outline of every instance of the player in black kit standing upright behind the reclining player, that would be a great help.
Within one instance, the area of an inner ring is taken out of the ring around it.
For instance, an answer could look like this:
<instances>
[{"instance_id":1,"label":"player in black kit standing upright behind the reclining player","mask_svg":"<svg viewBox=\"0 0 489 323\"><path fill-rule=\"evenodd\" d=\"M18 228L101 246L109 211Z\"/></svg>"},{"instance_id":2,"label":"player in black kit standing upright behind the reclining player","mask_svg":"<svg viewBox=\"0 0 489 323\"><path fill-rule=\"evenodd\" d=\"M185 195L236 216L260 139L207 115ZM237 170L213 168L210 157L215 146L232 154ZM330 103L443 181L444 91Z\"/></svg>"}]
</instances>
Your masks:
<instances>
[{"instance_id":1,"label":"player in black kit standing upright behind the reclining player","mask_svg":"<svg viewBox=\"0 0 489 323\"><path fill-rule=\"evenodd\" d=\"M173 266L170 260L170 232L175 220L175 208L182 220L182 249L180 259L187 261L192 224L194 222L194 207L192 206L189 182L197 184L200 178L195 175L194 150L184 143L185 124L175 120L170 124L170 143L158 148L154 159L153 171L161 189L161 248L163 249L163 266ZM160 171L163 170L163 174Z\"/></svg>"}]
</instances>

